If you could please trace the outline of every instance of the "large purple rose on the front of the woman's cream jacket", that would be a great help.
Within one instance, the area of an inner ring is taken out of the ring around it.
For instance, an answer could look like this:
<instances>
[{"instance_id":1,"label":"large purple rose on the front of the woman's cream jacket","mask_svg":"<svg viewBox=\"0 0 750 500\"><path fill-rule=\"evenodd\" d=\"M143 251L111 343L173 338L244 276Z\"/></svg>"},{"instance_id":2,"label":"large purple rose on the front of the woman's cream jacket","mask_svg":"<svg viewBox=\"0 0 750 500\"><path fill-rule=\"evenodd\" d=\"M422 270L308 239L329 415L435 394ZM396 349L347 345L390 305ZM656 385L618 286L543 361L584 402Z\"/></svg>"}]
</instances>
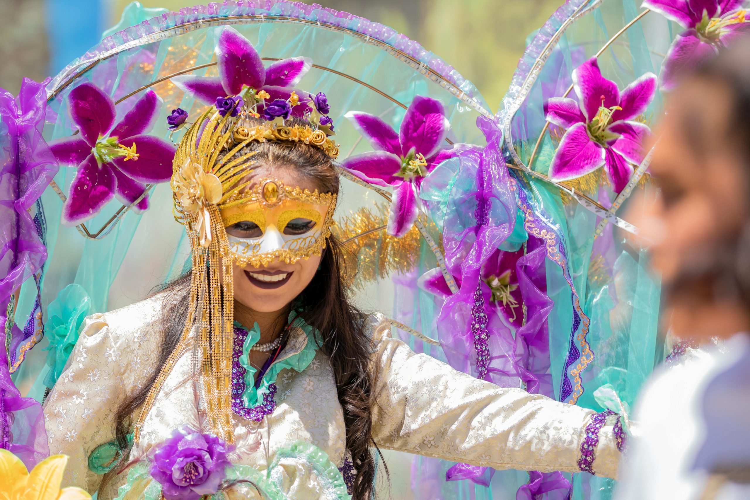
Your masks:
<instances>
[{"instance_id":1,"label":"large purple rose on the front of the woman's cream jacket","mask_svg":"<svg viewBox=\"0 0 750 500\"><path fill-rule=\"evenodd\" d=\"M165 499L198 500L219 490L227 465L226 447L217 436L181 427L154 452L149 472Z\"/></svg>"}]
</instances>

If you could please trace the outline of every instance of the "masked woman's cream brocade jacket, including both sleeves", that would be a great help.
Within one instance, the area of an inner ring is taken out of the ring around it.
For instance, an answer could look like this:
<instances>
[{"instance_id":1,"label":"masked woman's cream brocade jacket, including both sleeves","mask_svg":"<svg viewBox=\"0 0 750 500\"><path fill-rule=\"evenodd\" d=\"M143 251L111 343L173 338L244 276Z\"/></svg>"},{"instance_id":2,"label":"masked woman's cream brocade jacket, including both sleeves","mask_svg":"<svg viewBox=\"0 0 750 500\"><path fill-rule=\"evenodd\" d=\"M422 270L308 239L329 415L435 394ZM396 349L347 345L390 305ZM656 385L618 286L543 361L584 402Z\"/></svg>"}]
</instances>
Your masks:
<instances>
[{"instance_id":1,"label":"masked woman's cream brocade jacket, including both sleeves","mask_svg":"<svg viewBox=\"0 0 750 500\"><path fill-rule=\"evenodd\" d=\"M113 441L119 403L156 368L160 309L160 299L151 298L86 319L68 366L44 405L49 451L71 457L63 484L90 493L100 488L103 476L89 469L89 455ZM495 469L578 472L592 410L475 379L428 355L415 354L391 337L391 326L382 315L374 314L368 322L375 345L372 362L380 373L372 409L378 446ZM301 352L308 342L302 331L290 335L280 361ZM131 459L144 458L177 427L210 432L205 412L196 403L190 351L166 379ZM299 373L281 370L276 384L278 406L263 421L233 414L236 449L229 460L263 471L275 451L302 440L342 466L347 458L344 418L326 356L317 351ZM619 461L612 424L610 419L599 433L593 465L597 475L610 478ZM274 474L281 475L291 498L318 498L315 471L293 458L278 464ZM107 481L99 499L113 499L124 476Z\"/></svg>"}]
</instances>

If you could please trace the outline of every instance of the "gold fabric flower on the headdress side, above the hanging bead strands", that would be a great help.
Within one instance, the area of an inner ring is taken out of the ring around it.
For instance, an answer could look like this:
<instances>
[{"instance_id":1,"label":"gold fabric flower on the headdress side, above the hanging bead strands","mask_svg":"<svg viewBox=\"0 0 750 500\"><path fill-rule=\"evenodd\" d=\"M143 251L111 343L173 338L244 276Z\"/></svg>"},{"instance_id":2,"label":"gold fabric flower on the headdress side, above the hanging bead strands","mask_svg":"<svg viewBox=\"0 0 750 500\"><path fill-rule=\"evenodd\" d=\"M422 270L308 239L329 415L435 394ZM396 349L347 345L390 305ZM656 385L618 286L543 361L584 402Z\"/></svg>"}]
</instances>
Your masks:
<instances>
[{"instance_id":1,"label":"gold fabric flower on the headdress side, above the hanging bead strands","mask_svg":"<svg viewBox=\"0 0 750 500\"><path fill-rule=\"evenodd\" d=\"M208 205L221 199L221 181L210 173L203 172L197 163L185 160L175 175L175 196L186 214L196 219L196 231L202 247L211 244L211 214Z\"/></svg>"}]
</instances>

